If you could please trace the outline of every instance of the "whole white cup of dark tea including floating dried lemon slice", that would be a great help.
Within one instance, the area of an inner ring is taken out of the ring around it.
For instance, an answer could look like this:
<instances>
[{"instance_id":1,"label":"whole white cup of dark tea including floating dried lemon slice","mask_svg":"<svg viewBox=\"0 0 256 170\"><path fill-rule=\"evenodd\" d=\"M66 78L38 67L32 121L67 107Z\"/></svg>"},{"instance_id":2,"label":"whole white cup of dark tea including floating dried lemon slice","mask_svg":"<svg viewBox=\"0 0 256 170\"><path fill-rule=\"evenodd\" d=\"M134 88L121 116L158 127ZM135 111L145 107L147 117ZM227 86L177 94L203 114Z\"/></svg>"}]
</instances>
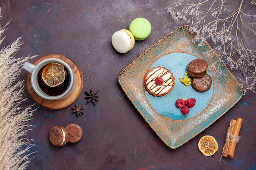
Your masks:
<instances>
[{"instance_id":1,"label":"whole white cup of dark tea including floating dried lemon slice","mask_svg":"<svg viewBox=\"0 0 256 170\"><path fill-rule=\"evenodd\" d=\"M74 72L62 60L48 58L37 65L25 62L22 68L31 73L32 88L44 99L65 99L74 89Z\"/></svg>"}]
</instances>

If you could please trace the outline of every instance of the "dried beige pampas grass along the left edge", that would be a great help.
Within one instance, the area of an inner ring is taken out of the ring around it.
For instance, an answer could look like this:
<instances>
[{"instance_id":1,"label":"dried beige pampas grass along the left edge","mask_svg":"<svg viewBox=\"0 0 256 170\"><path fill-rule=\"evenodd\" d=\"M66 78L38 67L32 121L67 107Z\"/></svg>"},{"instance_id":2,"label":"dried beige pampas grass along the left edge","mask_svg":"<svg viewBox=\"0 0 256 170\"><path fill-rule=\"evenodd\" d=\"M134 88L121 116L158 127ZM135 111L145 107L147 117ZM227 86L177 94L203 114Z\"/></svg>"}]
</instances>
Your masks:
<instances>
[{"instance_id":1,"label":"dried beige pampas grass along the left edge","mask_svg":"<svg viewBox=\"0 0 256 170\"><path fill-rule=\"evenodd\" d=\"M21 49L20 38L9 46L2 45L8 24L0 25L0 170L24 170L34 154L29 151L33 139L25 135L33 128L28 122L35 109L34 105L25 106L25 81L18 78L22 64L36 56L14 57Z\"/></svg>"}]
</instances>

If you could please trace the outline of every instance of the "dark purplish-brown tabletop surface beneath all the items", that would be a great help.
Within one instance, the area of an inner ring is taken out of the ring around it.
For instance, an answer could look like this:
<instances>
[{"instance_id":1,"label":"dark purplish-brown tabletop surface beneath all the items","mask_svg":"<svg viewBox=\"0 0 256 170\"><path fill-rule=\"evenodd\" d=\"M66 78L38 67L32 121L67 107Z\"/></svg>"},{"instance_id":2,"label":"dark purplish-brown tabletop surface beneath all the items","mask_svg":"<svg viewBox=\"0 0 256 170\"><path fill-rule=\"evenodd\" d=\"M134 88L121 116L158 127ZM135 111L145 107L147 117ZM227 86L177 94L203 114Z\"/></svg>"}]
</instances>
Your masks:
<instances>
[{"instance_id":1,"label":"dark purplish-brown tabletop surface beneath all the items","mask_svg":"<svg viewBox=\"0 0 256 170\"><path fill-rule=\"evenodd\" d=\"M60 53L74 60L84 77L83 91L75 101L85 107L84 114L79 117L71 114L74 104L62 110L38 108L34 121L29 122L36 126L27 135L36 145L31 152L37 152L32 156L29 170L256 169L256 111L252 91L198 136L171 149L148 126L119 86L118 75L128 64L185 24L173 22L164 9L170 4L171 1L166 0L1 0L2 24L12 19L4 44L21 36L24 42L17 57ZM253 9L249 0L244 6ZM151 34L144 41L136 41L128 53L117 53L111 44L112 34L128 29L137 17L150 21ZM255 46L254 39L247 39L248 44ZM20 79L24 79L26 73L22 71ZM240 79L241 74L236 71L235 76ZM85 105L84 91L90 89L99 89L96 106ZM33 104L31 99L29 104ZM235 156L219 161L229 121L237 117L243 119L243 124ZM81 141L53 146L49 129L70 123L83 128ZM214 136L219 144L218 151L211 157L205 157L198 150L198 141L204 135Z\"/></svg>"}]
</instances>

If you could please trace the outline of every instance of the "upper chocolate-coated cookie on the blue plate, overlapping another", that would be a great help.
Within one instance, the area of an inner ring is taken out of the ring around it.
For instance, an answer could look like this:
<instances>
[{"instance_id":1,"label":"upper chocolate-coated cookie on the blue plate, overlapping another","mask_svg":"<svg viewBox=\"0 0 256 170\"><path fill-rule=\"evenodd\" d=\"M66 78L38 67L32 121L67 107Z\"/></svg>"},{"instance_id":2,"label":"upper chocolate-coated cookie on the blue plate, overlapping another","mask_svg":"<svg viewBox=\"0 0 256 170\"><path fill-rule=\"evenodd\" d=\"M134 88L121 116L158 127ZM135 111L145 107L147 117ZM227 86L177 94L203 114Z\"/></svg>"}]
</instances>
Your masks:
<instances>
[{"instance_id":1,"label":"upper chocolate-coated cookie on the blue plate, overlapping another","mask_svg":"<svg viewBox=\"0 0 256 170\"><path fill-rule=\"evenodd\" d=\"M203 77L207 73L208 64L202 59L195 59L189 63L187 73L191 77Z\"/></svg>"}]
</instances>

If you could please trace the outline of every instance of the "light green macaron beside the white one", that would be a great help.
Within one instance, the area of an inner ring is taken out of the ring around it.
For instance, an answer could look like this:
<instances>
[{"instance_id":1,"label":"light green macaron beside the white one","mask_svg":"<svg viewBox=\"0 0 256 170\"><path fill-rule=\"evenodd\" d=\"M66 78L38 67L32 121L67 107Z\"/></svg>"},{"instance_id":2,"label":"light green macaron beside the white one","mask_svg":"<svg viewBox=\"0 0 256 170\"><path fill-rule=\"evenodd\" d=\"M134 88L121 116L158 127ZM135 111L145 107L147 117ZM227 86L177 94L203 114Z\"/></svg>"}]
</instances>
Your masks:
<instances>
[{"instance_id":1,"label":"light green macaron beside the white one","mask_svg":"<svg viewBox=\"0 0 256 170\"><path fill-rule=\"evenodd\" d=\"M151 33L151 24L145 18L135 18L129 25L129 31L135 40L145 40Z\"/></svg>"}]
</instances>

